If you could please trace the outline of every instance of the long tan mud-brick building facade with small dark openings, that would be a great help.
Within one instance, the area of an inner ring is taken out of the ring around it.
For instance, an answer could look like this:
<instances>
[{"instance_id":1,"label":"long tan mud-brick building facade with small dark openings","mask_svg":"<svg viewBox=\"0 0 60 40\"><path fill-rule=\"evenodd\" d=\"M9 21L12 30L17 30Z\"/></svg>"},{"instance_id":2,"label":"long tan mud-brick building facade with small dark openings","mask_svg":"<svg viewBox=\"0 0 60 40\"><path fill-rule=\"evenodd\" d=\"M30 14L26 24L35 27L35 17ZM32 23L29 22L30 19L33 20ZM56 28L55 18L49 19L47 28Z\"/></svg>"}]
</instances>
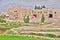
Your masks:
<instances>
[{"instance_id":1,"label":"long tan mud-brick building facade with small dark openings","mask_svg":"<svg viewBox=\"0 0 60 40\"><path fill-rule=\"evenodd\" d=\"M60 9L43 8L40 10L33 10L21 7L9 8L6 12L7 21L24 22L23 17L28 15L30 22L41 22L42 14L44 14L45 22L59 22Z\"/></svg>"}]
</instances>

